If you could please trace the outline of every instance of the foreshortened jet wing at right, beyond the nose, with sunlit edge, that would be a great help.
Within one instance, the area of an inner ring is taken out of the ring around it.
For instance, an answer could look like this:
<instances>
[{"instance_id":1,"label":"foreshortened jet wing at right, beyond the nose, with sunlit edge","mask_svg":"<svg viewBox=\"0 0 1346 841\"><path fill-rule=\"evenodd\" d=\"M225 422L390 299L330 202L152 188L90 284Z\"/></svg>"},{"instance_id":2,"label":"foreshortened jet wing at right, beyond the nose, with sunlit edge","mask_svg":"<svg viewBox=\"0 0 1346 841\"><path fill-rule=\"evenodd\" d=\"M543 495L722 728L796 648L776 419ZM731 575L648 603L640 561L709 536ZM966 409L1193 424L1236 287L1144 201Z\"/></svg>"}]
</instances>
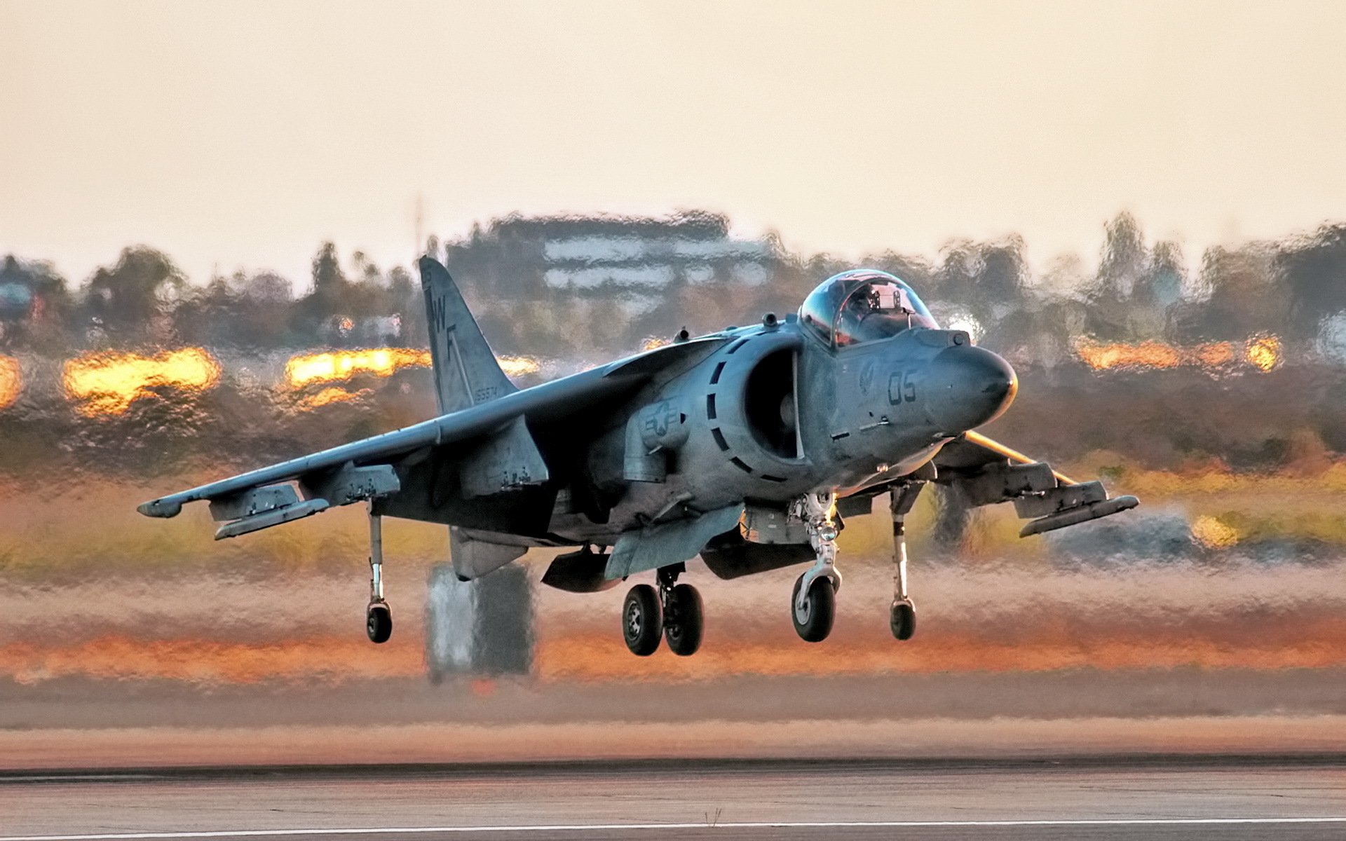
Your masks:
<instances>
[{"instance_id":1,"label":"foreshortened jet wing at right, beyond the nose, with sunlit edge","mask_svg":"<svg viewBox=\"0 0 1346 841\"><path fill-rule=\"evenodd\" d=\"M1135 497L1109 498L1101 482L1075 482L1044 462L976 432L945 444L934 458L935 482L957 487L970 506L1014 502L1031 519L1019 537L1042 534L1109 517L1140 505Z\"/></svg>"}]
</instances>

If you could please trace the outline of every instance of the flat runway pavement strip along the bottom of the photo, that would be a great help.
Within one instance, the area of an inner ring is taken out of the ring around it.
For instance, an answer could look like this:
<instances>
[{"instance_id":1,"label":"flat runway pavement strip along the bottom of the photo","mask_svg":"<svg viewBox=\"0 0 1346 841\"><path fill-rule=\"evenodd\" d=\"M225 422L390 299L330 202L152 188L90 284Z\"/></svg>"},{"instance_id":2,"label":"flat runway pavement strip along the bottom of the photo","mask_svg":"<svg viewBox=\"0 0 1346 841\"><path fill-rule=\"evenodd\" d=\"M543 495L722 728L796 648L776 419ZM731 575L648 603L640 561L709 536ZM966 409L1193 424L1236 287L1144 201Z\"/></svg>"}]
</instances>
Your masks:
<instances>
[{"instance_id":1,"label":"flat runway pavement strip along the bottom of the photo","mask_svg":"<svg viewBox=\"0 0 1346 841\"><path fill-rule=\"evenodd\" d=\"M0 776L0 841L1341 838L1346 756Z\"/></svg>"}]
</instances>

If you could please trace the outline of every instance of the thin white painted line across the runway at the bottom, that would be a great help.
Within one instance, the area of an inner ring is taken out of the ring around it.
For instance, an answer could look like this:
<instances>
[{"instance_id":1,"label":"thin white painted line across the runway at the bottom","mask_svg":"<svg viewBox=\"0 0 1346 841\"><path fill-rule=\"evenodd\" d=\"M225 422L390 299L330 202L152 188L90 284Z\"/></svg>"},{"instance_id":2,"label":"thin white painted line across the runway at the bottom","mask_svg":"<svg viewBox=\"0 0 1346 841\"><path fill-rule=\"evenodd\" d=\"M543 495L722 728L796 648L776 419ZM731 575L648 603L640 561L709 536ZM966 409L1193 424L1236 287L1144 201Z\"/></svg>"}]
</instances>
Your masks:
<instances>
[{"instance_id":1,"label":"thin white painted line across the runway at the bottom","mask_svg":"<svg viewBox=\"0 0 1346 841\"><path fill-rule=\"evenodd\" d=\"M662 829L918 829L937 826L1219 826L1276 824L1346 824L1322 818L1079 818L1043 821L736 821L721 824L534 824L521 826L371 826L334 829L221 829L210 832L136 832L87 836L0 836L0 841L137 841L141 838L256 838L279 836L377 836L490 832L619 832Z\"/></svg>"}]
</instances>

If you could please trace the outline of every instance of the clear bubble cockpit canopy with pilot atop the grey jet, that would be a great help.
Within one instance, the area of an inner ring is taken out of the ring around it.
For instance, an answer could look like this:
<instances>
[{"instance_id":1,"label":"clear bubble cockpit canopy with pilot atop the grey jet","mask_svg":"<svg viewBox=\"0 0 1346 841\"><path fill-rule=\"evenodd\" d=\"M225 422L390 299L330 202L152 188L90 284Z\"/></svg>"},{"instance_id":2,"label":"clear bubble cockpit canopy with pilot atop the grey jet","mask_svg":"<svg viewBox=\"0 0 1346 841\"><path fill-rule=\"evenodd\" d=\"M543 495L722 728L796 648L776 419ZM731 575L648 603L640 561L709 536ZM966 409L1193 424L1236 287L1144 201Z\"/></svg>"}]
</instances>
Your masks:
<instances>
[{"instance_id":1,"label":"clear bubble cockpit canopy with pilot atop the grey jet","mask_svg":"<svg viewBox=\"0 0 1346 841\"><path fill-rule=\"evenodd\" d=\"M804 299L800 323L833 347L887 339L911 327L938 327L911 287L874 269L824 280Z\"/></svg>"}]
</instances>

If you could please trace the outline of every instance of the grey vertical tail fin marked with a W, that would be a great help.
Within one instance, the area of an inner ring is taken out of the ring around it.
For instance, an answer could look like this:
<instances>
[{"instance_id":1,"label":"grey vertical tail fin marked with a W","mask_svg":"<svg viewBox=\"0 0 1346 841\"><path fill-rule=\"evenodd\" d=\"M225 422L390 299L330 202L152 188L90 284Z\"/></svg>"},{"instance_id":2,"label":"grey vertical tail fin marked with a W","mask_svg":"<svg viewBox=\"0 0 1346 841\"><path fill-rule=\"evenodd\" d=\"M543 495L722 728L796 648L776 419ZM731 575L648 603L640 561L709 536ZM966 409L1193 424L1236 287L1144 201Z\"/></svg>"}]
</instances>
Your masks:
<instances>
[{"instance_id":1,"label":"grey vertical tail fin marked with a W","mask_svg":"<svg viewBox=\"0 0 1346 841\"><path fill-rule=\"evenodd\" d=\"M420 272L440 413L459 412L517 392L495 361L448 269L432 257L421 257Z\"/></svg>"}]
</instances>

